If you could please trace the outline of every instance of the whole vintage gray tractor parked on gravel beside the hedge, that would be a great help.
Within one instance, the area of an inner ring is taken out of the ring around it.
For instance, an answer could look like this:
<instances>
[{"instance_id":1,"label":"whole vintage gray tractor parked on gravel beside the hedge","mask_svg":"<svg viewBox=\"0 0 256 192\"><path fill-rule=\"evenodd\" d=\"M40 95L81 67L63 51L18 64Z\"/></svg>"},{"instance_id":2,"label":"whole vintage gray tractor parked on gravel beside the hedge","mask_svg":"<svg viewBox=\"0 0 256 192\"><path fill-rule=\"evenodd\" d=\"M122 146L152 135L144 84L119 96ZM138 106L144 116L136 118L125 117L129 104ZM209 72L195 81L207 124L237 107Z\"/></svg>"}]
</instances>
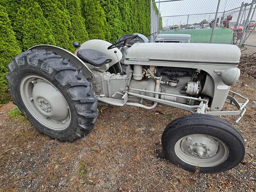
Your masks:
<instances>
[{"instance_id":1,"label":"whole vintage gray tractor parked on gravel beside the hedge","mask_svg":"<svg viewBox=\"0 0 256 192\"><path fill-rule=\"evenodd\" d=\"M153 109L157 104L190 112L168 124L164 154L180 167L202 173L238 165L240 133L216 116L246 111L248 99L230 91L240 76L234 45L149 43L141 34L74 42L76 52L38 45L16 56L6 76L14 104L50 138L74 141L89 133L98 105ZM233 110L222 110L227 102Z\"/></svg>"}]
</instances>

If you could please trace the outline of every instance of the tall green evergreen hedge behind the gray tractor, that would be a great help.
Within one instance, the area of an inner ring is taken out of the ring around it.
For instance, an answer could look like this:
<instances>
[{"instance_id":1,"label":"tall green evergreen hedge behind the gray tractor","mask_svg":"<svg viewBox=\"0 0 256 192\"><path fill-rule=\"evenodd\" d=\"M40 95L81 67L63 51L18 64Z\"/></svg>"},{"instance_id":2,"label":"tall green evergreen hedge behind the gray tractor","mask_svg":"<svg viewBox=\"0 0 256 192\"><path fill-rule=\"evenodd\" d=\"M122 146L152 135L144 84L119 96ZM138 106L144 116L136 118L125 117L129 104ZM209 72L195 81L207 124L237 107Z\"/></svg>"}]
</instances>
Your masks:
<instances>
[{"instance_id":1,"label":"tall green evergreen hedge behind the gray tractor","mask_svg":"<svg viewBox=\"0 0 256 192\"><path fill-rule=\"evenodd\" d=\"M7 64L37 44L73 51L73 41L114 43L150 34L150 0L0 0L0 104L10 101Z\"/></svg>"}]
</instances>

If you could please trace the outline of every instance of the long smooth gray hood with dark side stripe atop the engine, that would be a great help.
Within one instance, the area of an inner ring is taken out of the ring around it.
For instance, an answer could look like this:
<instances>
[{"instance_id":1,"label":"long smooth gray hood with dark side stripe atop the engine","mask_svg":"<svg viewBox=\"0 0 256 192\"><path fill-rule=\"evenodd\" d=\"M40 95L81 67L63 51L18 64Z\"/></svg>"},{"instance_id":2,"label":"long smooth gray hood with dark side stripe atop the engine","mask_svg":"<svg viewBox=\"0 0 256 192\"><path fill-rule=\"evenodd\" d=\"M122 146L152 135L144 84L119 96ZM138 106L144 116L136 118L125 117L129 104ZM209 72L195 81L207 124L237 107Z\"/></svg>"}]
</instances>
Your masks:
<instances>
[{"instance_id":1,"label":"long smooth gray hood with dark side stripe atop the engine","mask_svg":"<svg viewBox=\"0 0 256 192\"><path fill-rule=\"evenodd\" d=\"M129 48L125 62L143 62L143 65L152 65L146 64L152 61L237 66L240 54L238 46L228 44L136 43Z\"/></svg>"}]
</instances>

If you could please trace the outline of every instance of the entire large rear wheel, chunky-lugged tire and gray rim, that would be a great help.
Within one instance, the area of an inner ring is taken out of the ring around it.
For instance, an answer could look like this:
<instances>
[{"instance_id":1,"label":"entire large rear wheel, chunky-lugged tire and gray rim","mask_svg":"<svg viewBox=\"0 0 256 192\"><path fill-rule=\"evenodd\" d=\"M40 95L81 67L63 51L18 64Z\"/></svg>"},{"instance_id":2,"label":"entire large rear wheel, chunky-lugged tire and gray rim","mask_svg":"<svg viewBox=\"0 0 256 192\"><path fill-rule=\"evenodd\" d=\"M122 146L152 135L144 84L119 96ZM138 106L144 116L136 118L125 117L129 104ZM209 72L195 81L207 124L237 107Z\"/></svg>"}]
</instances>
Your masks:
<instances>
[{"instance_id":1,"label":"entire large rear wheel, chunky-lugged tire and gray rim","mask_svg":"<svg viewBox=\"0 0 256 192\"><path fill-rule=\"evenodd\" d=\"M92 130L97 98L68 59L45 50L29 50L8 64L6 79L14 103L50 138L74 141Z\"/></svg>"}]
</instances>

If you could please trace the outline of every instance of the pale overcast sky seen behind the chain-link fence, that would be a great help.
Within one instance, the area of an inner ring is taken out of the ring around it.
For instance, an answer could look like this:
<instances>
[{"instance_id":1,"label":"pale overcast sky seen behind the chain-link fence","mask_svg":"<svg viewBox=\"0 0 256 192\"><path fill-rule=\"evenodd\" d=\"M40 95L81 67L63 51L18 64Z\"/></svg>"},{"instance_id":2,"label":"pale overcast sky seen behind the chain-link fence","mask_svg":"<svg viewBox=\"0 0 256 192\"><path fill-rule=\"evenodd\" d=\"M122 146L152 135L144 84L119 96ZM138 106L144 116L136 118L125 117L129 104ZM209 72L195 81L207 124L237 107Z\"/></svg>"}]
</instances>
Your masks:
<instances>
[{"instance_id":1,"label":"pale overcast sky seen behind the chain-link fence","mask_svg":"<svg viewBox=\"0 0 256 192\"><path fill-rule=\"evenodd\" d=\"M160 14L163 17L162 22L163 26L170 25L180 25L186 24L188 19L188 24L199 23L202 20L212 20L215 17L215 12L218 5L218 0L180 0L174 2L161 2L158 1L164 0L155 0L156 6L160 4L159 10ZM219 12L223 12L238 8L244 3L251 3L252 0L221 0ZM247 6L249 9L250 6ZM190 14L200 14L200 15L187 15ZM179 16L186 15L186 16ZM222 14L219 14L221 16ZM167 17L171 16L171 17Z\"/></svg>"}]
</instances>

